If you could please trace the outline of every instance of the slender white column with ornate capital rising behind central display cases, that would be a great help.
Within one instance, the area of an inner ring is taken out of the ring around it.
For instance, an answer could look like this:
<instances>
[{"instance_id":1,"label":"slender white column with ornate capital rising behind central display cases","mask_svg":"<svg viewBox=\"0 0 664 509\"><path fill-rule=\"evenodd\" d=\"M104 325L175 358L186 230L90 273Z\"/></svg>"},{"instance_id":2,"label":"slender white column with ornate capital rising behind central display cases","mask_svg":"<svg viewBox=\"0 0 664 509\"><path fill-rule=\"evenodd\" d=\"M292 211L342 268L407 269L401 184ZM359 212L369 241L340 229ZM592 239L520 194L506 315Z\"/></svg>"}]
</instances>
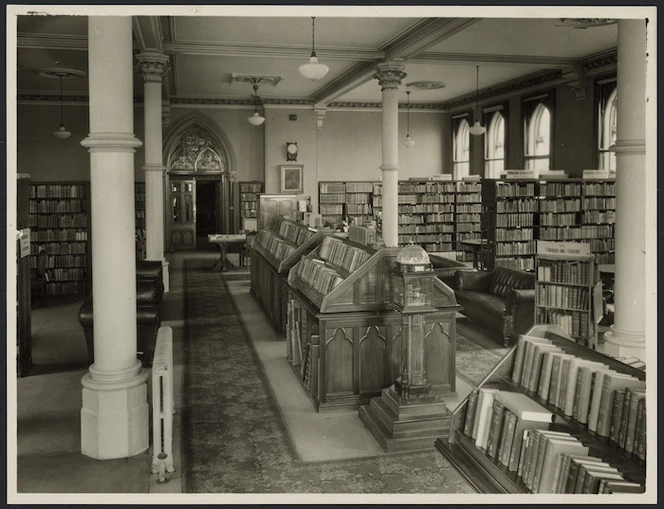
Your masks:
<instances>
[{"instance_id":1,"label":"slender white column with ornate capital rising behind central display cases","mask_svg":"<svg viewBox=\"0 0 664 509\"><path fill-rule=\"evenodd\" d=\"M387 247L398 245L399 191L399 85L406 77L403 61L378 64L374 78L383 93L383 241Z\"/></svg>"}]
</instances>

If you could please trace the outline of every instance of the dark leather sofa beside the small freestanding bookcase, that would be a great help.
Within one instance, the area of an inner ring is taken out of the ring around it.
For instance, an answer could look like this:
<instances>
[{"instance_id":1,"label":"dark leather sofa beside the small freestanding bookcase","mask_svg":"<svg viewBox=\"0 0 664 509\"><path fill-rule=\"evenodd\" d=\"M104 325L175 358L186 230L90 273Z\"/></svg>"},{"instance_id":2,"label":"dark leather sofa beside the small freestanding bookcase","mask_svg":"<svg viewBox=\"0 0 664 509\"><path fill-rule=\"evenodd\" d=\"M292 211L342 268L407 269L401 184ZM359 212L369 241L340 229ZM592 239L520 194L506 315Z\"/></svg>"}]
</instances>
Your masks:
<instances>
[{"instance_id":1,"label":"dark leather sofa beside the small freestanding bookcase","mask_svg":"<svg viewBox=\"0 0 664 509\"><path fill-rule=\"evenodd\" d=\"M535 275L497 267L493 271L456 273L454 292L460 311L500 333L513 344L535 321Z\"/></svg>"}]
</instances>

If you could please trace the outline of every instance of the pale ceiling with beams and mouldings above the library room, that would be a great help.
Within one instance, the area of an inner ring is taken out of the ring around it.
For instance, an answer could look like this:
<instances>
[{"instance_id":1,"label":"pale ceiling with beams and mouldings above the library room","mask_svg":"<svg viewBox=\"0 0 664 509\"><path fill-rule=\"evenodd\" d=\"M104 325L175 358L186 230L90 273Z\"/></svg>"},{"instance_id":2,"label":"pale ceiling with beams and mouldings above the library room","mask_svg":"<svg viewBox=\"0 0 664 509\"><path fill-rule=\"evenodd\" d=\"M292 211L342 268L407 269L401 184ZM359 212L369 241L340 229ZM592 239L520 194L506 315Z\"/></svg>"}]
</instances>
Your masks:
<instances>
[{"instance_id":1,"label":"pale ceiling with beams and mouldings above the library room","mask_svg":"<svg viewBox=\"0 0 664 509\"><path fill-rule=\"evenodd\" d=\"M330 68L319 81L303 78L298 67L311 53L311 18L261 16L134 16L136 53L158 50L170 56L165 97L177 101L251 102L248 83L231 75L279 75L263 85L265 102L334 105L379 103L372 76L378 62L402 58L407 85L440 81L444 88L413 90L411 104L440 105L472 98L476 65L480 89L536 73L583 72L588 59L615 53L617 24L575 29L561 18L328 17L315 24L316 53ZM86 16L17 17L19 98L59 94L59 83L39 75L43 68L87 72ZM87 94L87 79L65 84L65 95ZM134 91L142 96L135 72Z\"/></svg>"}]
</instances>

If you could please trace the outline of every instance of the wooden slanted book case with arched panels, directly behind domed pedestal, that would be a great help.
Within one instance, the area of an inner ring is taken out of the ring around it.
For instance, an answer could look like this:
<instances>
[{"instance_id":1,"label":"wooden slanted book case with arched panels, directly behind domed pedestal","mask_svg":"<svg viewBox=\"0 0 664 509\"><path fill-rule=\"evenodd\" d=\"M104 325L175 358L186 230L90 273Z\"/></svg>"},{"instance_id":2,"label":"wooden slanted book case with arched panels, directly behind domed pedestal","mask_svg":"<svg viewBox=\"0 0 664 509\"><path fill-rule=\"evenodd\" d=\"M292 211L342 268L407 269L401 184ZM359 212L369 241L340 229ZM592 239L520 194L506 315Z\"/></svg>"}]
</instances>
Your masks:
<instances>
[{"instance_id":1,"label":"wooden slanted book case with arched panels, directly behind domed pedestal","mask_svg":"<svg viewBox=\"0 0 664 509\"><path fill-rule=\"evenodd\" d=\"M358 408L400 374L401 315L391 306L399 248L325 237L289 272L287 357L318 411ZM454 292L434 278L425 370L434 390L455 390Z\"/></svg>"}]
</instances>

